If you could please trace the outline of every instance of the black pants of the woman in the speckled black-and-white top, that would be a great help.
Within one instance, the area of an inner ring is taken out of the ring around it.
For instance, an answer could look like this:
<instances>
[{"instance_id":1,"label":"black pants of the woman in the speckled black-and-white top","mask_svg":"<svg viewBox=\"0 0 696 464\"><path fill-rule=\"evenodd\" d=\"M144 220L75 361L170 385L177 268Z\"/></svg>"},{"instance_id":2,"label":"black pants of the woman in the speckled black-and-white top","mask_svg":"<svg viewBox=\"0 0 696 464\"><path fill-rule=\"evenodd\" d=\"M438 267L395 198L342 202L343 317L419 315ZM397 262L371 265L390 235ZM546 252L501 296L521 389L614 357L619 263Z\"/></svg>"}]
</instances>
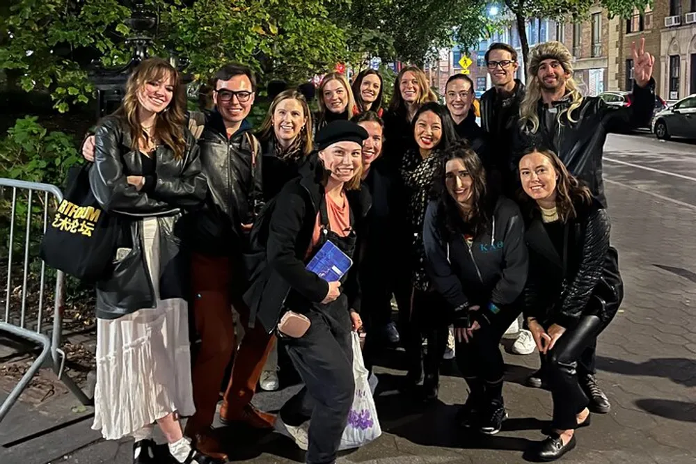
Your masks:
<instances>
[{"instance_id":1,"label":"black pants of the woman in the speckled black-and-white top","mask_svg":"<svg viewBox=\"0 0 696 464\"><path fill-rule=\"evenodd\" d=\"M410 311L407 314L401 311L407 318L402 323L401 335L404 339L404 349L408 362L409 376L420 377L425 374L425 379L435 385L439 382L440 364L447 349L448 316L447 304L436 291L413 290L411 296ZM427 353L422 356L422 338L427 340Z\"/></svg>"}]
</instances>

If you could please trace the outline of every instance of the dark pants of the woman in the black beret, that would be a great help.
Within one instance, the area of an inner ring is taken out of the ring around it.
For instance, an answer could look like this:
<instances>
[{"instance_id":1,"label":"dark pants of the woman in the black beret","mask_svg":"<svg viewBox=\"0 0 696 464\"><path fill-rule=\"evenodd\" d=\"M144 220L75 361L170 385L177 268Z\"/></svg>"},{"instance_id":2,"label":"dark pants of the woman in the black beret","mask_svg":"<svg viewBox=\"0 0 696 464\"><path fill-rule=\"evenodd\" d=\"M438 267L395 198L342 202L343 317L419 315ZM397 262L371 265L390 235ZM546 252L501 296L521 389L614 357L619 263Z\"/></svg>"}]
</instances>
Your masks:
<instances>
[{"instance_id":1,"label":"dark pants of the woman in the black beret","mask_svg":"<svg viewBox=\"0 0 696 464\"><path fill-rule=\"evenodd\" d=\"M307 315L312 325L299 339L281 339L305 386L280 409L283 422L310 419L306 461L333 463L353 403L351 319L345 302Z\"/></svg>"}]
</instances>

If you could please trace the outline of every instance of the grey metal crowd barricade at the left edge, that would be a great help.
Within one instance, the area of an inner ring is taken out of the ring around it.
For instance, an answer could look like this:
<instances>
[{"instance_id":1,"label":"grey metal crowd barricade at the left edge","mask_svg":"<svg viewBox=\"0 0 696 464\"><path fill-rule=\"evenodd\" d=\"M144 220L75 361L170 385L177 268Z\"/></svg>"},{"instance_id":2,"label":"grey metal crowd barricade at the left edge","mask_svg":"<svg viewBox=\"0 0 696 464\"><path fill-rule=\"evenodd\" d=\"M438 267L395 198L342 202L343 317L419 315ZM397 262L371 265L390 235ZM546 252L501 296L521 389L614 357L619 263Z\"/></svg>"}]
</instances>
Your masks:
<instances>
[{"instance_id":1,"label":"grey metal crowd barricade at the left edge","mask_svg":"<svg viewBox=\"0 0 696 464\"><path fill-rule=\"evenodd\" d=\"M72 392L72 394L74 394L77 397L77 399L81 401L81 403L85 405L92 403L92 400L86 396L86 394L76 383L74 383L74 381L72 381L72 378L70 378L67 375L63 375L63 369L65 367L65 352L63 352L63 350L61 349L61 338L63 335L63 301L65 297L65 275L62 271L56 271L53 327L45 328L43 324L43 310L45 296L44 289L48 285L48 283L46 282L47 269L46 264L38 257L38 255L32 256L33 253L30 253L30 248L32 247L32 245L34 246L34 248L38 248L37 242L35 241L32 243L31 241L32 216L37 216L33 214L33 211L35 209L40 209L34 207L33 200L37 198L38 207L41 206L41 202L43 203L41 223L42 232L38 237L38 239L40 239L43 237L43 234L45 234L46 227L49 221L50 202L52 200L55 200L57 202L56 205L60 204L60 202L63 201L63 193L60 189L58 189L58 187L51 184L40 184L38 182L25 182L21 180L0 178L0 201L4 202L8 200L8 198L6 198L8 196L6 195L6 193L8 193L9 190L11 190L12 192L11 200L9 200L10 207L8 208L10 211L10 233L8 237L3 238L3 241L6 241L8 245L8 255L6 257L6 291L4 292L4 295L0 295L0 301L3 296L5 300L5 308L3 312L4 314L3 317L0 319L0 333L9 333L11 335L14 335L15 337L20 337L22 339L29 340L30 342L34 342L35 344L41 346L42 349L41 353L38 355L38 358L36 358L36 360L31 364L24 376L22 376L22 379L19 381L19 383L17 383L17 385L15 385L13 390L10 392L9 396L5 399L5 401L3 401L2 405L0 406L0 422L2 422L3 418L7 415L10 408L12 408L17 399L19 399L19 395L22 394L22 391L24 391L27 385L29 385L31 378L33 378L37 371L47 361L52 364L53 370L58 376L58 378L61 381L63 381L65 386L68 387L68 390L70 390L70 392ZM19 193L19 195L17 195L17 193ZM26 197L24 195L26 195ZM19 203L17 202L18 196L20 200ZM17 225L17 223L21 222L21 218L23 216L22 211L18 211L23 207L22 198L26 198L24 250L23 255L18 257L19 259L17 260L17 262L22 266L22 273L21 275L19 275L21 279L15 279L15 276L17 275L17 273L13 273L13 271L15 271L17 267L15 266L15 268L13 269L13 259L15 259L15 235L21 234L22 232L21 225L19 227L15 226ZM36 235L38 234L35 234L35 236ZM5 264L3 262L4 258L5 257L0 257L0 266L3 266ZM33 319L33 317L31 317L31 314L33 314L31 308L29 308L30 314L29 317L27 317L27 296L29 293L27 289L27 283L30 273L29 267L31 264L33 264L33 262L36 262L37 264L38 262L40 262L40 289L38 294L38 308L35 308L37 310L35 320ZM21 282L21 287L15 287L13 289L13 284L16 285L18 282ZM13 297L14 290L17 288L21 289L21 305L19 307L19 315L17 315L16 310L11 310L11 300Z\"/></svg>"}]
</instances>

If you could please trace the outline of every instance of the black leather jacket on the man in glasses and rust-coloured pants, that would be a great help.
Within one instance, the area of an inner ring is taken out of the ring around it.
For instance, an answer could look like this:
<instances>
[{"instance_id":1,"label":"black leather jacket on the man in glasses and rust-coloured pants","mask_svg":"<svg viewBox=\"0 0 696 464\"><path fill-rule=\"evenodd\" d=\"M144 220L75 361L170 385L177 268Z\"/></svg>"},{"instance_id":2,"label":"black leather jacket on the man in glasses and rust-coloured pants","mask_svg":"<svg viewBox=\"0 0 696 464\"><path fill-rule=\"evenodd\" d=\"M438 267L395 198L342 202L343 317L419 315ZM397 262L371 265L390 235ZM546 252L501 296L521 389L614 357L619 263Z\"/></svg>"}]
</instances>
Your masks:
<instances>
[{"instance_id":1,"label":"black leather jacket on the man in glasses and rust-coloured pants","mask_svg":"<svg viewBox=\"0 0 696 464\"><path fill-rule=\"evenodd\" d=\"M252 145L253 144L253 145ZM196 218L196 252L227 256L246 246L242 223L253 222L255 204L263 200L260 144L246 122L229 139L217 111L210 113L198 139L209 195ZM255 157L252 161L252 146Z\"/></svg>"}]
</instances>

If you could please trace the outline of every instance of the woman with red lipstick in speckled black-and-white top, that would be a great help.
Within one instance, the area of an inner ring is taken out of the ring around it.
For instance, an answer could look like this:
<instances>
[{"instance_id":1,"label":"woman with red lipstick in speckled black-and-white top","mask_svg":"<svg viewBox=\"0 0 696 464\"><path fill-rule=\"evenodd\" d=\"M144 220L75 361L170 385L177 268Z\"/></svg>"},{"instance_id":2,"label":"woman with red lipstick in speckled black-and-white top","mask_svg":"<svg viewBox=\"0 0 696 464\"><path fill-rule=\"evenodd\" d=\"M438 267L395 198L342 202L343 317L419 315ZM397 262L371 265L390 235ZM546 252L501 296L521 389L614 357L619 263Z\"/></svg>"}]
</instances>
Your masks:
<instances>
[{"instance_id":1,"label":"woman with red lipstick in speckled black-and-white top","mask_svg":"<svg viewBox=\"0 0 696 464\"><path fill-rule=\"evenodd\" d=\"M400 174L406 193L406 223L404 243L406 262L409 269L408 311L400 308L400 319L405 321L401 335L406 337L404 348L409 360L409 385L423 383L426 400L437 398L440 360L445 353L448 337L448 321L443 314L433 315L433 308L444 307L442 297L434 291L425 272L425 250L423 248L423 220L428 205L435 170L441 162L443 152L455 140L452 120L443 106L430 102L422 105L413 116L411 134L416 149L408 150L402 159ZM406 333L404 334L404 330ZM422 360L421 342L425 334L428 341L427 356Z\"/></svg>"}]
</instances>

